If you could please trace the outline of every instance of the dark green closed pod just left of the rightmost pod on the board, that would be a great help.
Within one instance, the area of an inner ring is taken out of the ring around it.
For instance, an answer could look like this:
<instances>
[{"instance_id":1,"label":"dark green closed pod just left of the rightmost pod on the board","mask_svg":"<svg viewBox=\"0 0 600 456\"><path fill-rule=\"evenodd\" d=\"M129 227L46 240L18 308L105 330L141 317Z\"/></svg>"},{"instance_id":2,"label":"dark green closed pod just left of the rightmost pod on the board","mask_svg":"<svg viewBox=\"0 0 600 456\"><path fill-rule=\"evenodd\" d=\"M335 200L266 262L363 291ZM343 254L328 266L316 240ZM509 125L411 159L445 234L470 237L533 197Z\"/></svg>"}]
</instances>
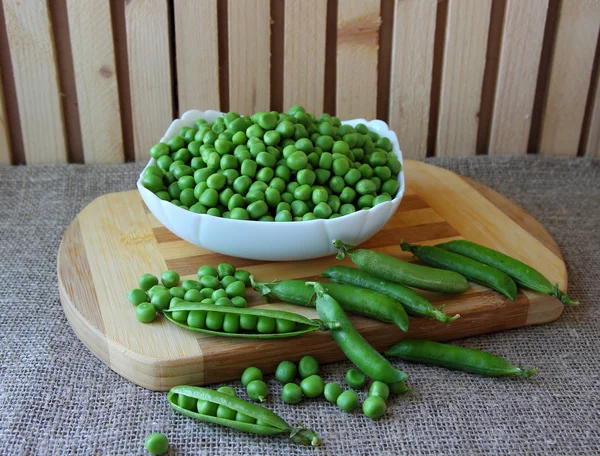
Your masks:
<instances>
[{"instance_id":1,"label":"dark green closed pod just left of the rightmost pod on the board","mask_svg":"<svg viewBox=\"0 0 600 456\"><path fill-rule=\"evenodd\" d=\"M508 275L479 261L430 245L414 245L401 242L402 250L412 252L414 256L432 266L456 271L473 282L486 285L511 301L517 297L517 284Z\"/></svg>"}]
</instances>

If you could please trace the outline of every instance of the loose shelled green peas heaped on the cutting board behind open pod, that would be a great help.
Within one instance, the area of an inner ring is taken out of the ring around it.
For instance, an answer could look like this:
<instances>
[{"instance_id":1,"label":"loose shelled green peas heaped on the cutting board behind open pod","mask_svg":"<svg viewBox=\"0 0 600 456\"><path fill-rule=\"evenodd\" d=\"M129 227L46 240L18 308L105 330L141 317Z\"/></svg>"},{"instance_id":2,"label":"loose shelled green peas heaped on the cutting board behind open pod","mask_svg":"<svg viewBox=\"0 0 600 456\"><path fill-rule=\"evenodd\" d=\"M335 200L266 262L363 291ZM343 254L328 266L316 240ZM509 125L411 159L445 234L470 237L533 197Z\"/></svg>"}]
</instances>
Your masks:
<instances>
[{"instance_id":1,"label":"loose shelled green peas heaped on the cutting board behind open pod","mask_svg":"<svg viewBox=\"0 0 600 456\"><path fill-rule=\"evenodd\" d=\"M217 306L248 307L246 287L250 286L250 273L244 269L236 270L235 266L228 263L219 264L217 268L201 266L198 280L182 282L177 272L168 270L162 273L160 282L153 274L143 274L138 280L139 288L127 294L136 307L138 321L150 323L155 320L157 312L161 313L182 301L210 301ZM174 320L192 327L206 324L206 312L172 312L171 315Z\"/></svg>"}]
</instances>

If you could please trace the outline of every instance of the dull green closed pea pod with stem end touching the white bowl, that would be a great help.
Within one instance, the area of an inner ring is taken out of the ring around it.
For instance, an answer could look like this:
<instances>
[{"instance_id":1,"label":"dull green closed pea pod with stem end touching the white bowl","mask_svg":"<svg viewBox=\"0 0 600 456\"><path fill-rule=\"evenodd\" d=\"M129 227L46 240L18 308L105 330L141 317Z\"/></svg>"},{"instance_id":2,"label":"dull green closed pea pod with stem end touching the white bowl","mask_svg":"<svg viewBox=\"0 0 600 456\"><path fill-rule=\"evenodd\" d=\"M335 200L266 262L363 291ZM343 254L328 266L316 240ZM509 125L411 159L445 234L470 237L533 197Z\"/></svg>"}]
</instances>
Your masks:
<instances>
[{"instance_id":1,"label":"dull green closed pea pod with stem end touching the white bowl","mask_svg":"<svg viewBox=\"0 0 600 456\"><path fill-rule=\"evenodd\" d=\"M419 266L372 250L350 250L352 246L336 239L333 245L339 249L338 260L348 255L360 269L382 279L442 293L462 293L469 288L467 279L457 272Z\"/></svg>"}]
</instances>

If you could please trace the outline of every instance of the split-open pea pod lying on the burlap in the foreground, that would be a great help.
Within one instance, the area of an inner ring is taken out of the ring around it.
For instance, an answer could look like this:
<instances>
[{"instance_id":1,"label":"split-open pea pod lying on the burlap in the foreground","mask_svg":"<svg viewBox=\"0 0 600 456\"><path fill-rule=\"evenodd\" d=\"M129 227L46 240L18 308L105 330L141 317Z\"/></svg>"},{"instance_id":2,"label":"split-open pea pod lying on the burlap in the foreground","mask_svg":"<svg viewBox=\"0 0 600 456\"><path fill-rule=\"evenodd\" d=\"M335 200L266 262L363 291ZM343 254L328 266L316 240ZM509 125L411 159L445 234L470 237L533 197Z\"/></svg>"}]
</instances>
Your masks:
<instances>
[{"instance_id":1,"label":"split-open pea pod lying on the burlap in the foreground","mask_svg":"<svg viewBox=\"0 0 600 456\"><path fill-rule=\"evenodd\" d=\"M190 399L195 399L196 401L205 401L216 404L217 406L227 407L235 411L236 415L243 414L245 420L237 421L233 419L220 418L209 414L199 413L197 409L185 409L179 406L178 399L180 395ZM274 435L289 433L289 438L296 443L311 446L319 446L321 444L321 440L319 437L317 437L314 431L304 427L294 428L287 424L278 415L264 407L261 407L260 405L252 404L237 397L220 393L218 391L213 391L198 386L175 386L171 388L171 391L169 391L167 394L167 400L174 410L200 421L220 424L221 426L227 426L253 434ZM248 419L248 417L250 419Z\"/></svg>"}]
</instances>

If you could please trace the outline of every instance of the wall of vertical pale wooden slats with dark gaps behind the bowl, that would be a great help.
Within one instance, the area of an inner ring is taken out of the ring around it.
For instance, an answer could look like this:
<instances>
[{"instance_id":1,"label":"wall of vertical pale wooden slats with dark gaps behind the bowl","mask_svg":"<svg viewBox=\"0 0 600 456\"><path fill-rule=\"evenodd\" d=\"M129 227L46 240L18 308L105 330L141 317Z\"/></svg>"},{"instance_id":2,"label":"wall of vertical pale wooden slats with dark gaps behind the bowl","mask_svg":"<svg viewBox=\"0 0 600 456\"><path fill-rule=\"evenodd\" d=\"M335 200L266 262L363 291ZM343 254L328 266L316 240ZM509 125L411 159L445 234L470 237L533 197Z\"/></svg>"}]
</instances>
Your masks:
<instances>
[{"instance_id":1,"label":"wall of vertical pale wooden slats with dark gaps behind the bowl","mask_svg":"<svg viewBox=\"0 0 600 456\"><path fill-rule=\"evenodd\" d=\"M410 158L600 156L599 32L600 0L0 0L0 165L145 160L188 109L293 104Z\"/></svg>"}]
</instances>

